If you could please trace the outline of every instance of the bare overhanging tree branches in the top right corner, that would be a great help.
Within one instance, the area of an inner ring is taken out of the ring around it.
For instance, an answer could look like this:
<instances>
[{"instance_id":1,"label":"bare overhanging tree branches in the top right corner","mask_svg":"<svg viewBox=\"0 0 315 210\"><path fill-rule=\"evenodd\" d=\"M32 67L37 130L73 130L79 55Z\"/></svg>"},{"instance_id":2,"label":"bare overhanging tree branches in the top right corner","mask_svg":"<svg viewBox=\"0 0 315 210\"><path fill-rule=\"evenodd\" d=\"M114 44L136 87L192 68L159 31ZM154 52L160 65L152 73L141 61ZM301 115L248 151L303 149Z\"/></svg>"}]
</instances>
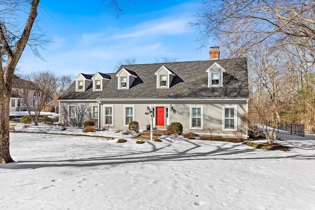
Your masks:
<instances>
[{"instance_id":1,"label":"bare overhanging tree branches in the top right corner","mask_svg":"<svg viewBox=\"0 0 315 210\"><path fill-rule=\"evenodd\" d=\"M190 23L199 30L202 46L208 45L209 38L228 34L246 37L248 49L270 37L298 37L310 41L295 44L315 52L313 0L202 0L202 5Z\"/></svg>"}]
</instances>

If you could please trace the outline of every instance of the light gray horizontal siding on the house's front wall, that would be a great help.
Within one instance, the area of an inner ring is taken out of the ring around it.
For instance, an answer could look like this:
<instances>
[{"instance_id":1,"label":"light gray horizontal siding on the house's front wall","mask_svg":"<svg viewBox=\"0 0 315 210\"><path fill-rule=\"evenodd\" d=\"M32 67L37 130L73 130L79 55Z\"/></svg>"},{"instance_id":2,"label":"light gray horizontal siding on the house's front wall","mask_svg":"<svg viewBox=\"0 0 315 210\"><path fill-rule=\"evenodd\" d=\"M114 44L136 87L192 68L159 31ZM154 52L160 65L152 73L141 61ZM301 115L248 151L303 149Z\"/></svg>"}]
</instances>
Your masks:
<instances>
[{"instance_id":1,"label":"light gray horizontal siding on the house's front wall","mask_svg":"<svg viewBox=\"0 0 315 210\"><path fill-rule=\"evenodd\" d=\"M198 103L191 103L190 101L164 101L160 103L152 103L152 101L120 101L116 103L114 101L109 101L103 103L100 106L100 128L106 128L110 130L126 129L125 126L125 107L134 107L134 118L133 120L139 122L140 130L146 130L146 125L150 124L150 115L148 115L147 107L157 107L164 106L169 108L170 104L174 108L174 111L169 110L169 121L180 122L183 125L184 132L194 132L197 134L207 134L208 128L213 129L213 134L216 136L230 136L233 135L233 131L223 130L223 107L237 107L237 129L243 130L245 134L246 131L243 129L241 124L241 117L247 111L246 100L200 100ZM76 119L63 119L61 117L61 123L67 122L69 125L82 126L85 120L92 119L92 105L97 106L98 103L60 103L60 111L63 112L61 116L67 116L68 105L76 105ZM113 107L114 116L114 126L104 125L104 107ZM203 129L190 129L190 109L191 107L203 107ZM166 116L165 116L166 117ZM154 124L155 124L155 120ZM165 119L165 128L167 125L167 120Z\"/></svg>"}]
</instances>

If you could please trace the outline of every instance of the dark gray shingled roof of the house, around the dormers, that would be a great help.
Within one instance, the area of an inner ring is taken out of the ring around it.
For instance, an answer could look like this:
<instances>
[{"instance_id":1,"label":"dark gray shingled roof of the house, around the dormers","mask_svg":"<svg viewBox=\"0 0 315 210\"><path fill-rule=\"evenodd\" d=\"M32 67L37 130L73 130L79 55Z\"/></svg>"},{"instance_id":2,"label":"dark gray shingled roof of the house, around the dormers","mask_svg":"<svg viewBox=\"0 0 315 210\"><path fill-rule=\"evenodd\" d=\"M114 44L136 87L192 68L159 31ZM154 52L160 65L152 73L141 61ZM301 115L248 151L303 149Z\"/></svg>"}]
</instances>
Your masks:
<instances>
[{"instance_id":1,"label":"dark gray shingled roof of the house, around the dormers","mask_svg":"<svg viewBox=\"0 0 315 210\"><path fill-rule=\"evenodd\" d=\"M206 70L215 62L222 68L223 87L209 88ZM164 65L176 76L169 89L157 89L157 75L155 72ZM84 92L75 91L75 82L63 93L59 100L83 100L96 98L248 98L247 60L200 60L171 63L152 63L122 65L137 75L129 90L118 90L116 73L108 73L111 80L103 91L93 91L91 84Z\"/></svg>"}]
</instances>

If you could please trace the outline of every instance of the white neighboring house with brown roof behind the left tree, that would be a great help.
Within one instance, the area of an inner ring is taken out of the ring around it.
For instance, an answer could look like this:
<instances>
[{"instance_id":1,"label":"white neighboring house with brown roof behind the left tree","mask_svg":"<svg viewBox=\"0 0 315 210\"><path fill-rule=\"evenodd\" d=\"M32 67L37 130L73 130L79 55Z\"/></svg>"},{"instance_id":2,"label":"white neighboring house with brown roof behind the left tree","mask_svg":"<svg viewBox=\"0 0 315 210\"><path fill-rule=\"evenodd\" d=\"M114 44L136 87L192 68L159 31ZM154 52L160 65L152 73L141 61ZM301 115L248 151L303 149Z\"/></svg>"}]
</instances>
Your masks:
<instances>
[{"instance_id":1,"label":"white neighboring house with brown roof behind the left tree","mask_svg":"<svg viewBox=\"0 0 315 210\"><path fill-rule=\"evenodd\" d=\"M17 75L13 75L12 91L11 91L11 98L10 98L10 112L27 111L27 108L23 99L23 91L25 87L28 87L29 90L32 90L31 92L35 92L34 91L36 89L35 84L33 84L31 81L21 79ZM42 94L42 92L38 91L37 94ZM47 104L52 104L51 98L47 101ZM49 107L47 110L41 110L41 111L51 112L52 108L54 107L52 106L52 107ZM34 111L34 107L32 105L30 106L30 111Z\"/></svg>"}]
</instances>

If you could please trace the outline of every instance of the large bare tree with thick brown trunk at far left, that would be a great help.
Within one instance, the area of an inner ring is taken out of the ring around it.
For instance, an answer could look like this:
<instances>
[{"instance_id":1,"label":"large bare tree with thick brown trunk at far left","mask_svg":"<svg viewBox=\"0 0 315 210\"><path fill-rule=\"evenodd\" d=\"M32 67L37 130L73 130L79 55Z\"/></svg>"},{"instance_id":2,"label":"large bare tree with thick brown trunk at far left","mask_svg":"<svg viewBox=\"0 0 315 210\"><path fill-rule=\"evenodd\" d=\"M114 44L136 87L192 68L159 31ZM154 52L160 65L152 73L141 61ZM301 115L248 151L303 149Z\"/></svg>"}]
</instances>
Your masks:
<instances>
[{"instance_id":1,"label":"large bare tree with thick brown trunk at far left","mask_svg":"<svg viewBox=\"0 0 315 210\"><path fill-rule=\"evenodd\" d=\"M14 8L17 1L8 2L1 1L2 3L11 3L11 7L5 7L1 11L1 16L3 14L13 15L12 10L8 8ZM37 16L37 7L39 0L32 0L30 4L30 12L28 19L25 23L24 29L21 33L13 35L8 29L8 25L1 18L0 21L0 48L1 48L1 64L0 64L0 163L13 162L9 150L9 103L12 90L12 77L15 71L15 67L20 60L22 53L28 43L32 26ZM2 7L1 7L2 8ZM3 13L2 13L3 12ZM14 46L10 45L11 37L15 37ZM5 60L5 61L4 61ZM3 62L4 61L4 62Z\"/></svg>"}]
</instances>

